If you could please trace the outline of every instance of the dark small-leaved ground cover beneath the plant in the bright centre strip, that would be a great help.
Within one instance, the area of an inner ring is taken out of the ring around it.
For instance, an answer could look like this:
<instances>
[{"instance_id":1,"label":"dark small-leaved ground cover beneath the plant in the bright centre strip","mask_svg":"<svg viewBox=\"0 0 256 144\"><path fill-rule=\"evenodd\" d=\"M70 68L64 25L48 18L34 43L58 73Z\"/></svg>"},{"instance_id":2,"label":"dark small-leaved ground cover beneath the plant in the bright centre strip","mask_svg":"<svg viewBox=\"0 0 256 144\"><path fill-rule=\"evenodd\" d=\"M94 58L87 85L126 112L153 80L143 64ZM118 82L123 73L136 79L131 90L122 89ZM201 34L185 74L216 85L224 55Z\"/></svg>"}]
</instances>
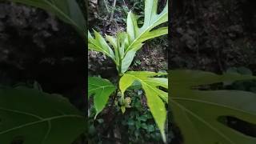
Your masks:
<instances>
[{"instance_id":1,"label":"dark small-leaved ground cover beneath the plant in the bright centre strip","mask_svg":"<svg viewBox=\"0 0 256 144\"><path fill-rule=\"evenodd\" d=\"M144 103L146 98L140 86L128 88L126 94L131 98L130 108L126 110L126 114L120 113L120 106L111 110L117 114L112 120L114 122L111 121L112 125L103 121L106 120L105 118L94 120L94 109L90 109L89 141L91 143L106 143L108 139L99 132L106 129L109 130L109 134L117 129L121 135L121 143L161 143L159 142L162 138L160 130L146 103ZM109 114L106 116L109 117Z\"/></svg>"}]
</instances>

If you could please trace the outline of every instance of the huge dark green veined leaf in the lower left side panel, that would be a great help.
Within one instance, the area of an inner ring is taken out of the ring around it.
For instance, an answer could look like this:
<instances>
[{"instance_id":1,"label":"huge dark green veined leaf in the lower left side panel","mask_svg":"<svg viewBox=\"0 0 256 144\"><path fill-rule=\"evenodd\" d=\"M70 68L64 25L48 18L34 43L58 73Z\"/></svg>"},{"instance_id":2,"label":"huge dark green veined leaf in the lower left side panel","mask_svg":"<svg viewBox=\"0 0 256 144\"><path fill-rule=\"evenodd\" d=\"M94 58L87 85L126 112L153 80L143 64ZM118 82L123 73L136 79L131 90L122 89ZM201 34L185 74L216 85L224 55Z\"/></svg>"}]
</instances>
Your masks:
<instances>
[{"instance_id":1,"label":"huge dark green veined leaf in the lower left side panel","mask_svg":"<svg viewBox=\"0 0 256 144\"><path fill-rule=\"evenodd\" d=\"M86 120L66 98L28 88L0 89L0 142L70 144Z\"/></svg>"}]
</instances>

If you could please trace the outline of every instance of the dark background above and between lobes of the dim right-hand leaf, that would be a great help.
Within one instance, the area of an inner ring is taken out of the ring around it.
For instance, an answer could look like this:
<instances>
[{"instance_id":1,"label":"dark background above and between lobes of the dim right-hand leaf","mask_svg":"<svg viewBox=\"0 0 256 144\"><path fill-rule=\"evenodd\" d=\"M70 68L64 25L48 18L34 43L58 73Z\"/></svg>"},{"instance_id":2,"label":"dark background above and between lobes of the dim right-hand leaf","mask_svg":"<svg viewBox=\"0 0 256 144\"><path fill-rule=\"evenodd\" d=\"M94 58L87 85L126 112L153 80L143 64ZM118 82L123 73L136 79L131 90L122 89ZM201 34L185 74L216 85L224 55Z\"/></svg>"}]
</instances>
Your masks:
<instances>
[{"instance_id":1,"label":"dark background above and between lobes of the dim right-hand leaf","mask_svg":"<svg viewBox=\"0 0 256 144\"><path fill-rule=\"evenodd\" d=\"M256 72L256 1L254 0L173 0L170 2L169 68L207 70L217 74L234 71ZM255 91L256 82L236 82L225 89ZM230 126L253 134L252 126L230 119ZM174 139L182 134L171 122Z\"/></svg>"}]
</instances>

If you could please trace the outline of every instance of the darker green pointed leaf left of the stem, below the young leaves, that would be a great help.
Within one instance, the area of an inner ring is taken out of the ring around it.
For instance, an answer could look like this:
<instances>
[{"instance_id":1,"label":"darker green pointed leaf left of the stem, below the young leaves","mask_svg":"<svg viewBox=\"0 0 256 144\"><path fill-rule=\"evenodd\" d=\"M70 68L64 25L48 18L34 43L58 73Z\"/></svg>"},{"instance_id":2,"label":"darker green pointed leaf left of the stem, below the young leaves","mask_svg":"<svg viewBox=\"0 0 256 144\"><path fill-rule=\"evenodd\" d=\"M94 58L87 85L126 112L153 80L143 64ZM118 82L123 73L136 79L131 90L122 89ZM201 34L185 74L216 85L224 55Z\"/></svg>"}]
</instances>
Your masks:
<instances>
[{"instance_id":1,"label":"darker green pointed leaf left of the stem, below the young leaves","mask_svg":"<svg viewBox=\"0 0 256 144\"><path fill-rule=\"evenodd\" d=\"M88 81L88 98L94 96L94 107L97 115L103 110L108 102L110 94L115 90L115 86L108 80L98 78L98 77L89 77Z\"/></svg>"}]
</instances>

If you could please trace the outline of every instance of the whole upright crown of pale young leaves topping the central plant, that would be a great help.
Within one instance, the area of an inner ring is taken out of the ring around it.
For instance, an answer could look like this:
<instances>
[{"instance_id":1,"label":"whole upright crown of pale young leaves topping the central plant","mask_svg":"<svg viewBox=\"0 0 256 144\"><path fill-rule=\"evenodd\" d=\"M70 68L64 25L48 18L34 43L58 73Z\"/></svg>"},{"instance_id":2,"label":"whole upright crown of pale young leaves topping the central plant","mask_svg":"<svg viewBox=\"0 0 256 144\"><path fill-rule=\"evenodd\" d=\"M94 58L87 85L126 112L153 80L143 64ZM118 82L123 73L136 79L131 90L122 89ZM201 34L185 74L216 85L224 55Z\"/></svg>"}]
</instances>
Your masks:
<instances>
[{"instance_id":1,"label":"whole upright crown of pale young leaves topping the central plant","mask_svg":"<svg viewBox=\"0 0 256 144\"><path fill-rule=\"evenodd\" d=\"M168 2L160 14L157 14L157 9L158 0L145 1L145 18L141 28L137 25L136 16L130 11L126 21L126 32L118 32L116 37L106 35L114 52L97 32L94 32L95 37L98 37L95 39L88 32L89 49L100 51L112 58L117 65L118 73L124 74L133 62L136 52L142 48L142 42L168 33L168 27L160 26L168 21Z\"/></svg>"}]
</instances>

